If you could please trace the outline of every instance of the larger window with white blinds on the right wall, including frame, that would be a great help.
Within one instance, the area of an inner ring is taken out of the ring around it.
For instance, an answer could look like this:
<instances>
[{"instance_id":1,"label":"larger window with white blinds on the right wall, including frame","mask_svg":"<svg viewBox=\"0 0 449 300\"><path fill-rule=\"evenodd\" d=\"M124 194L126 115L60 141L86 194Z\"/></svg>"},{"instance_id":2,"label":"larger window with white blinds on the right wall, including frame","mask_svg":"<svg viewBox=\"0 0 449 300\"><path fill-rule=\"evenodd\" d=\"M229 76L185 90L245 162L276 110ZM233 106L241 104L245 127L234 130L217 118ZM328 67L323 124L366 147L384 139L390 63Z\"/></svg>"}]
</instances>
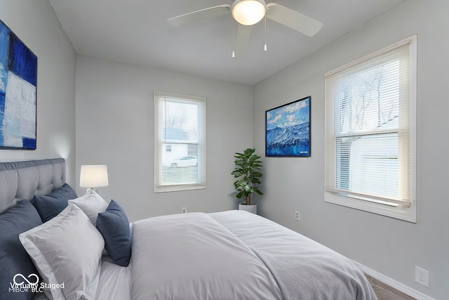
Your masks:
<instances>
[{"instance_id":1,"label":"larger window with white blinds on the right wall, including frame","mask_svg":"<svg viewBox=\"0 0 449 300\"><path fill-rule=\"evenodd\" d=\"M326 73L326 202L416 222L416 48Z\"/></svg>"}]
</instances>

